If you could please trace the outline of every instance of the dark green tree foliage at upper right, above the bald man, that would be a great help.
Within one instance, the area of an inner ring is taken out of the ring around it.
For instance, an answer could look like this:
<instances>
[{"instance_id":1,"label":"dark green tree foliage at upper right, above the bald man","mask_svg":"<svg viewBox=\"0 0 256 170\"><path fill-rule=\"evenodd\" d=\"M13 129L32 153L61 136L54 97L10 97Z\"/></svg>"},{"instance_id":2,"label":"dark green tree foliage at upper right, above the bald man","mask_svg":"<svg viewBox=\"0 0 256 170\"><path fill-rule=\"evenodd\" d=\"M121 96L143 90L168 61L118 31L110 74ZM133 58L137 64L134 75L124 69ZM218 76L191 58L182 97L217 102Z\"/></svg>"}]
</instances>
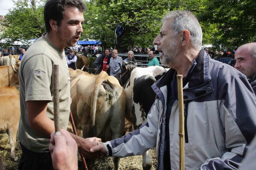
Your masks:
<instances>
[{"instance_id":1,"label":"dark green tree foliage at upper right, above the bald man","mask_svg":"<svg viewBox=\"0 0 256 170\"><path fill-rule=\"evenodd\" d=\"M255 0L211 0L198 17L205 26L214 26L213 44L232 49L256 39Z\"/></svg>"}]
</instances>

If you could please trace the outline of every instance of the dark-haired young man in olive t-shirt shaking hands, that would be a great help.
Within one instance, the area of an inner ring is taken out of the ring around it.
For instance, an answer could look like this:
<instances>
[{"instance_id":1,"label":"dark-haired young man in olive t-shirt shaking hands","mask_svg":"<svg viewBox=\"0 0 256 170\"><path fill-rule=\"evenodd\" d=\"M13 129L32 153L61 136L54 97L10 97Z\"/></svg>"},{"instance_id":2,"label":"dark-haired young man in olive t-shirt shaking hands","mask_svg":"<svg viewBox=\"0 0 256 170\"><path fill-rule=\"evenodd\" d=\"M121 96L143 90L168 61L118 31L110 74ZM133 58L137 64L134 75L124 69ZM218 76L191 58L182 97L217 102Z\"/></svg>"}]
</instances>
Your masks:
<instances>
[{"instance_id":1,"label":"dark-haired young man in olive t-shirt shaking hands","mask_svg":"<svg viewBox=\"0 0 256 170\"><path fill-rule=\"evenodd\" d=\"M59 64L60 124L66 129L70 110L70 79L64 48L75 46L83 32L82 0L48 0L44 6L46 32L25 53L20 63L20 124L22 149L18 169L53 169L49 152L54 131L52 65ZM86 157L99 138L71 134Z\"/></svg>"}]
</instances>

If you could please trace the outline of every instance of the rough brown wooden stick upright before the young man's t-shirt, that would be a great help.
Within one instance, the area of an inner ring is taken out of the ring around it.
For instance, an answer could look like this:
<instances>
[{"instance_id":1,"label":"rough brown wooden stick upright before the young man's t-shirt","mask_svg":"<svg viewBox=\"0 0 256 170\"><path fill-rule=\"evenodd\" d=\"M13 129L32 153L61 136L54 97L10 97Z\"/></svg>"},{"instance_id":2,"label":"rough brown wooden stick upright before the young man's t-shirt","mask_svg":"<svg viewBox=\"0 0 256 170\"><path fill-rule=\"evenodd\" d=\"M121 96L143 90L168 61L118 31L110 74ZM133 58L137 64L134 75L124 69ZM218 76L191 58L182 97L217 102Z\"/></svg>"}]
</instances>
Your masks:
<instances>
[{"instance_id":1,"label":"rough brown wooden stick upright before the young man's t-shirt","mask_svg":"<svg viewBox=\"0 0 256 170\"><path fill-rule=\"evenodd\" d=\"M59 64L53 64L52 72L54 127L60 132Z\"/></svg>"}]
</instances>

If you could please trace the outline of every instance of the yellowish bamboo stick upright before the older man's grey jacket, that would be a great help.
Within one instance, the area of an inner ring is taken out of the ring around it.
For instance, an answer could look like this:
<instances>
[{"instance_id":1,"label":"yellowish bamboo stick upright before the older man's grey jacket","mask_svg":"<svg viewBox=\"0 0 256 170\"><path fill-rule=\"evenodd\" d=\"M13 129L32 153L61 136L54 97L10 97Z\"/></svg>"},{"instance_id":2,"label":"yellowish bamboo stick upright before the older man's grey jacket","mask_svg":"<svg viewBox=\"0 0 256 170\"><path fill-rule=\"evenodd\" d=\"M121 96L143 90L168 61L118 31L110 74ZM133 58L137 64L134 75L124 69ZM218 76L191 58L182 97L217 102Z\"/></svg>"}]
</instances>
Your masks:
<instances>
[{"instance_id":1,"label":"yellowish bamboo stick upright before the older man's grey jacket","mask_svg":"<svg viewBox=\"0 0 256 170\"><path fill-rule=\"evenodd\" d=\"M180 170L184 170L184 107L182 75L177 75L179 100Z\"/></svg>"}]
</instances>

